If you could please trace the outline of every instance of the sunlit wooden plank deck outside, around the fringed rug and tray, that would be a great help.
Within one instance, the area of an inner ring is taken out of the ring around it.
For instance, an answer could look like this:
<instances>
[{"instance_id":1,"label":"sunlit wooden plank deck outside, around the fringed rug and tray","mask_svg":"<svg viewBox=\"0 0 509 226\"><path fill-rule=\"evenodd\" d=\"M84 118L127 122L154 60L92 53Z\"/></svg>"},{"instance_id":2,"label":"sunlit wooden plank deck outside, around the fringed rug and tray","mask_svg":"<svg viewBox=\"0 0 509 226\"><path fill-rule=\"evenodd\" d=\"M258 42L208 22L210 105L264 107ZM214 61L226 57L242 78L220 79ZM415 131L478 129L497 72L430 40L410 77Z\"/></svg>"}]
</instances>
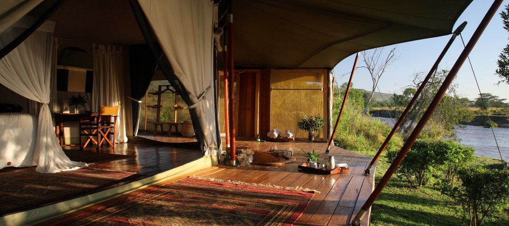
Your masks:
<instances>
[{"instance_id":1,"label":"sunlit wooden plank deck outside, around the fringed rug and tray","mask_svg":"<svg viewBox=\"0 0 509 226\"><path fill-rule=\"evenodd\" d=\"M151 136L146 137L151 138ZM180 138L157 137L157 140L177 142ZM366 165L369 164L371 158L338 147L333 147L330 154L334 155L336 163L347 163L350 167L350 171L335 175L315 175L299 171L297 166L305 162L306 159L301 148L306 151L311 151L315 148L315 151L322 153L319 158L322 160L323 157L325 157L325 153L323 153L326 148L325 143L258 143L253 141L238 141L237 146L251 147L261 151L267 151L271 147L276 149L289 149L294 151L294 157L297 158L297 161L280 167L256 165L249 167L228 167L219 164L172 179L172 181L186 176L196 175L205 178L238 180L249 183L290 187L299 186L320 191L320 193L314 196L295 225L348 225L352 215L357 213L374 188L373 173L371 176L363 176L363 171ZM164 161L161 161L161 163L162 162ZM171 181L166 181L164 183L168 182ZM111 202L111 200L109 202ZM98 205L100 206L102 204ZM88 209L92 210L94 208L96 207L92 206ZM85 209L85 211L87 211L87 209ZM72 216L73 213L70 213L43 222L41 225L58 223ZM370 216L371 212L364 217L363 225L369 225Z\"/></svg>"}]
</instances>

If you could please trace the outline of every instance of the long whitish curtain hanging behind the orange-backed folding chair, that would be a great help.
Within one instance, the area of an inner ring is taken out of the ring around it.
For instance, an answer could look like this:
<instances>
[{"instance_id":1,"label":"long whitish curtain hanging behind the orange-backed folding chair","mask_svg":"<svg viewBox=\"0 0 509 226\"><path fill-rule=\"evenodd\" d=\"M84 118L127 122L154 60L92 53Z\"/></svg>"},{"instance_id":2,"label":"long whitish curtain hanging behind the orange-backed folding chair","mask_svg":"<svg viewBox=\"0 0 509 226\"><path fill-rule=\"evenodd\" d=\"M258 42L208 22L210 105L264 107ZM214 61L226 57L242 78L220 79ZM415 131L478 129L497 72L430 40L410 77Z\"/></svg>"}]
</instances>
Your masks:
<instances>
[{"instance_id":1,"label":"long whitish curtain hanging behind the orange-backed folding chair","mask_svg":"<svg viewBox=\"0 0 509 226\"><path fill-rule=\"evenodd\" d=\"M115 142L127 142L122 48L94 44L92 49L94 57L92 111L99 112L101 105L120 106Z\"/></svg>"}]
</instances>

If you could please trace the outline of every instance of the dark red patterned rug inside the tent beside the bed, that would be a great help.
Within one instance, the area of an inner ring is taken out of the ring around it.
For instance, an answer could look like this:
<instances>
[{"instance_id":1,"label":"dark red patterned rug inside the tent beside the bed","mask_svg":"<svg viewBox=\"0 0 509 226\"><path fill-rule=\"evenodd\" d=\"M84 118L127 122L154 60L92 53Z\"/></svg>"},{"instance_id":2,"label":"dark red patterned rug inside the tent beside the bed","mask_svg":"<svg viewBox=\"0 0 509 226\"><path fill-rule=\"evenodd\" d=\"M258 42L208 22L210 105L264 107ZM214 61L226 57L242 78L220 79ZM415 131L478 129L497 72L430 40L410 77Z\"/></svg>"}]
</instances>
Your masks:
<instances>
[{"instance_id":1,"label":"dark red patterned rug inside the tent beside the bed","mask_svg":"<svg viewBox=\"0 0 509 226\"><path fill-rule=\"evenodd\" d=\"M121 180L137 177L127 172L83 168L60 173L38 173L35 167L0 171L0 215L80 197Z\"/></svg>"}]
</instances>

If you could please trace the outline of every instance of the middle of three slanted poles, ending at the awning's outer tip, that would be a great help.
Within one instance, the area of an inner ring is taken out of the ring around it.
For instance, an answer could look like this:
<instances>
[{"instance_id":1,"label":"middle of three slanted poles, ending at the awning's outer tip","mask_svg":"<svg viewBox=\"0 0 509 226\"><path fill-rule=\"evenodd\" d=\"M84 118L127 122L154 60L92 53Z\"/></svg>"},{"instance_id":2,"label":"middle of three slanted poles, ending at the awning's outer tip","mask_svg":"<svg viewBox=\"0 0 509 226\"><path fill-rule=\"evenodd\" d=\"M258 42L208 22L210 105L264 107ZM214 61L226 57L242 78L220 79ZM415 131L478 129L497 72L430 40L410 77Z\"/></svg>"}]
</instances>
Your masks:
<instances>
[{"instance_id":1,"label":"middle of three slanted poles, ending at the awning's outer tip","mask_svg":"<svg viewBox=\"0 0 509 226\"><path fill-rule=\"evenodd\" d=\"M440 64L440 61L442 61L442 58L444 57L445 53L447 53L447 51L449 50L449 47L453 44L453 42L456 39L456 37L460 35L461 31L463 31L463 28L465 28L466 25L467 25L467 21L463 22L460 26L458 26L458 28L456 28L456 30L453 33L453 36L450 37L449 42L447 42L447 45L445 45L444 49L442 50L442 52L438 56L437 60L435 61L435 64L433 64L433 67L431 67L430 72L428 73L426 78L424 80L422 80L422 83L420 84L419 88L417 88L417 90L415 91L415 94L414 94L412 100L410 100L410 102L408 103L408 105L405 108L405 110L401 113L400 118L394 124L394 127L392 127L392 130L390 131L389 135L387 135L387 138L385 138L385 141L383 142L382 146L380 146L380 149L378 149L378 152L375 154L375 157L373 157L373 159L371 160L370 165L367 166L366 170L364 171L364 175L369 175L370 174L371 167L373 167L373 165L375 165L375 163L377 162L378 158L380 157L382 152L385 150L385 148L389 144L389 141L392 138L392 136L396 133L396 131L398 131L398 129L401 126L401 123L403 123L403 120L405 120L408 112L410 112L410 109L412 108L412 106L417 101L417 98L419 97L419 94L422 92L422 90L424 89L424 87L426 86L428 81L430 80L431 76L437 70L438 64Z\"/></svg>"}]
</instances>

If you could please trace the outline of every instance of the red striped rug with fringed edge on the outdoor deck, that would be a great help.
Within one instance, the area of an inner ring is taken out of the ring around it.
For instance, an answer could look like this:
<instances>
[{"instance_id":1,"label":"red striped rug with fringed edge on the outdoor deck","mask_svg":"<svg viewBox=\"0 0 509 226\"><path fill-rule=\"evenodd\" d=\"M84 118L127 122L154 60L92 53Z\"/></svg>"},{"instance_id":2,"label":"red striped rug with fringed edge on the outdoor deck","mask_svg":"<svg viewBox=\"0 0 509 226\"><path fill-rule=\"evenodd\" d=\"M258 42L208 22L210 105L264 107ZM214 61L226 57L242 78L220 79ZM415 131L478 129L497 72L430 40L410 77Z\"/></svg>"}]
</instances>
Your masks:
<instances>
[{"instance_id":1,"label":"red striped rug with fringed edge on the outdoor deck","mask_svg":"<svg viewBox=\"0 0 509 226\"><path fill-rule=\"evenodd\" d=\"M291 225L313 191L186 178L72 213L58 225Z\"/></svg>"}]
</instances>

